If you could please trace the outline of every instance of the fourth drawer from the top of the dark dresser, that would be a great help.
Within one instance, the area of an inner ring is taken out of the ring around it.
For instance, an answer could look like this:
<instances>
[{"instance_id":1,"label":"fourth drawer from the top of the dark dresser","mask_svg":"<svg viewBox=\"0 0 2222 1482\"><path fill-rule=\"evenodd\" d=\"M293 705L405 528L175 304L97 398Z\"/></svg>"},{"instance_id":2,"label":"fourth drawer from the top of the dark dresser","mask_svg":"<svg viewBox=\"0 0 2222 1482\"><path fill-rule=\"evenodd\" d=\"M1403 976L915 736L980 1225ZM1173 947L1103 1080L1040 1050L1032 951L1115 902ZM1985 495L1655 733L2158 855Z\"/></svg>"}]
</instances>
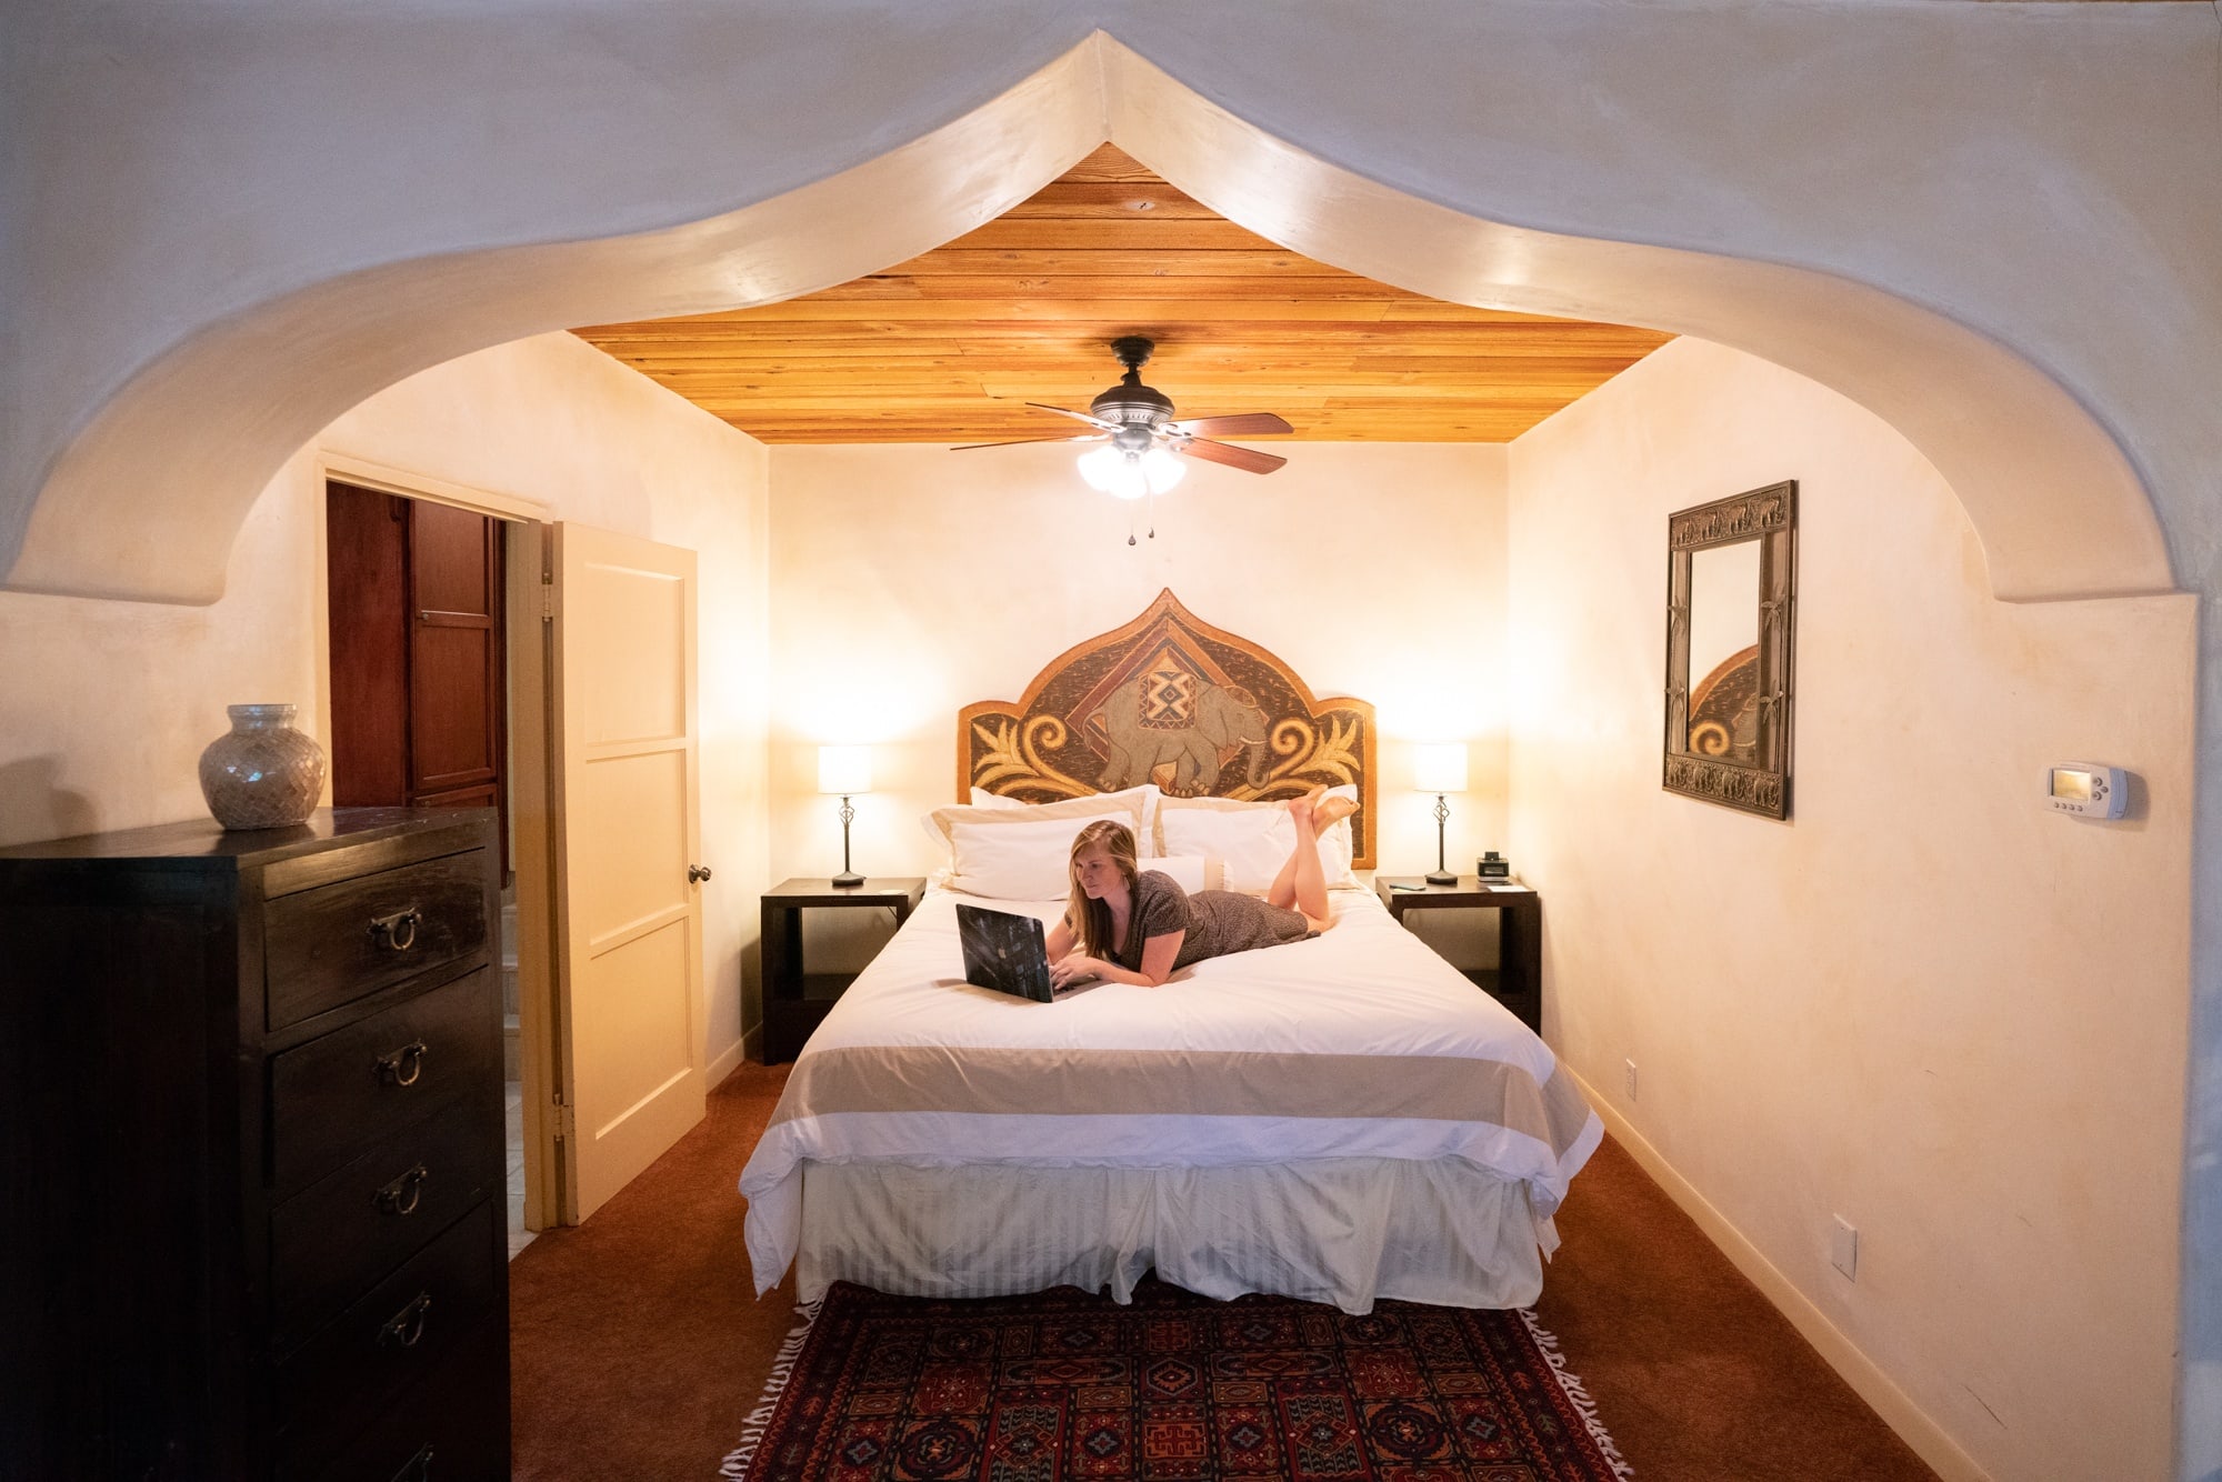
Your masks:
<instances>
[{"instance_id":1,"label":"fourth drawer from the top of the dark dresser","mask_svg":"<svg viewBox=\"0 0 2222 1482\"><path fill-rule=\"evenodd\" d=\"M278 1364L284 1473L329 1464L336 1442L436 1375L502 1311L500 1204L487 1200ZM409 1460L409 1451L396 1462ZM438 1473L433 1473L438 1475Z\"/></svg>"}]
</instances>

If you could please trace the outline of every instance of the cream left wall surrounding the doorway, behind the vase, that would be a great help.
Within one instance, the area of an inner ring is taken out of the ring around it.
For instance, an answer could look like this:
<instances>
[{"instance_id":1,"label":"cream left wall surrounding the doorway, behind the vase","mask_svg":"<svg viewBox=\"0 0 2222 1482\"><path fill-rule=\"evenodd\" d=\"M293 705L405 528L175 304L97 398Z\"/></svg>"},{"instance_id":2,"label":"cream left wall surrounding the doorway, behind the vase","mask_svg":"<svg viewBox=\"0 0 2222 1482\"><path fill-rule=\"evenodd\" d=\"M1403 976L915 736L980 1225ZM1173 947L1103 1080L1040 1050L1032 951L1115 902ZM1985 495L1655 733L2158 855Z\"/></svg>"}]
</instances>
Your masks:
<instances>
[{"instance_id":1,"label":"cream left wall surrounding the doorway, behind the vase","mask_svg":"<svg viewBox=\"0 0 2222 1482\"><path fill-rule=\"evenodd\" d=\"M291 700L322 740L320 453L700 553L707 1053L735 1049L767 860L767 455L573 336L453 360L327 427L262 491L213 607L0 593L0 842L204 813L196 760L229 702Z\"/></svg>"}]
</instances>

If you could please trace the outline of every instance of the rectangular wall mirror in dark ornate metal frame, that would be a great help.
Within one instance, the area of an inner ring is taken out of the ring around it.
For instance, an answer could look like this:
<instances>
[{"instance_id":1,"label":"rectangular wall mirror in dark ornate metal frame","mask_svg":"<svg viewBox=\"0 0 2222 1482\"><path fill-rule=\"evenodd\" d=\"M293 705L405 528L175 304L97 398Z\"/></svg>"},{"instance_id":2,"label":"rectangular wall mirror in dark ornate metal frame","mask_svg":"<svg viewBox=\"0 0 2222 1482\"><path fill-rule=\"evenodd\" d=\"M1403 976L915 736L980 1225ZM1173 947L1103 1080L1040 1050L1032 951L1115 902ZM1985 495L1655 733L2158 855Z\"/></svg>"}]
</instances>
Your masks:
<instances>
[{"instance_id":1,"label":"rectangular wall mirror in dark ornate metal frame","mask_svg":"<svg viewBox=\"0 0 2222 1482\"><path fill-rule=\"evenodd\" d=\"M1660 787L1791 815L1798 482L1666 515Z\"/></svg>"}]
</instances>

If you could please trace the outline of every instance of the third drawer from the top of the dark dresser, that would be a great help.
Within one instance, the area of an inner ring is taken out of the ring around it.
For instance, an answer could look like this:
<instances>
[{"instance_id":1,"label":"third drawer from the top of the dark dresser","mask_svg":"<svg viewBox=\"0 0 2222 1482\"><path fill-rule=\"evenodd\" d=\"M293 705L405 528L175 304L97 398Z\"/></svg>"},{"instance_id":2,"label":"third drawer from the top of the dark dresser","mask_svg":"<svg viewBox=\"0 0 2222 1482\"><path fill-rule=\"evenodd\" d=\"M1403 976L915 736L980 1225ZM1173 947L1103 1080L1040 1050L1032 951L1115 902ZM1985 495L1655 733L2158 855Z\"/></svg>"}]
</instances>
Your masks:
<instances>
[{"instance_id":1,"label":"third drawer from the top of the dark dresser","mask_svg":"<svg viewBox=\"0 0 2222 1482\"><path fill-rule=\"evenodd\" d=\"M331 1320L424 1240L502 1186L502 1109L467 1095L271 1213L271 1342Z\"/></svg>"}]
</instances>

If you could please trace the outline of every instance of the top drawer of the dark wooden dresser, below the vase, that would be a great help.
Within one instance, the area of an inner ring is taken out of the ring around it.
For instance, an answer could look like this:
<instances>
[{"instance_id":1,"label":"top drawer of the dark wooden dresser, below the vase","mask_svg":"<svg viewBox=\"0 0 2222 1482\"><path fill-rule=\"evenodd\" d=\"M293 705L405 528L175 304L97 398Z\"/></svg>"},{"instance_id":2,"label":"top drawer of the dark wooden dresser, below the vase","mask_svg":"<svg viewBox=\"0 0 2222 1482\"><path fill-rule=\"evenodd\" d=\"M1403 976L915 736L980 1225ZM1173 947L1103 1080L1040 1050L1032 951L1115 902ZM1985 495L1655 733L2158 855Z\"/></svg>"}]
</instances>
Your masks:
<instances>
[{"instance_id":1,"label":"top drawer of the dark wooden dresser, below the vase","mask_svg":"<svg viewBox=\"0 0 2222 1482\"><path fill-rule=\"evenodd\" d=\"M282 1029L484 951L484 849L278 895L262 907L264 1024Z\"/></svg>"}]
</instances>

